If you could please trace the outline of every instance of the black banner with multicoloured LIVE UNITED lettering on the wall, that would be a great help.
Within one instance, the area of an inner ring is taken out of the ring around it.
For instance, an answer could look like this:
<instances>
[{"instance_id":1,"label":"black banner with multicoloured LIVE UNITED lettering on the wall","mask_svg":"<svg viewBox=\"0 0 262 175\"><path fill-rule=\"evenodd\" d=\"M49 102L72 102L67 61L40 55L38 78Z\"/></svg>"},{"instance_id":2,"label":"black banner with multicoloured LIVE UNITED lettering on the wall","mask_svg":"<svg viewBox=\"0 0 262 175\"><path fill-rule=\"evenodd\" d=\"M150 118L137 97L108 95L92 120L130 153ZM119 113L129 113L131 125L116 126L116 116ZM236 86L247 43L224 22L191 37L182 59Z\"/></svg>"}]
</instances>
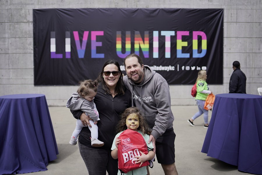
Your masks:
<instances>
[{"instance_id":1,"label":"black banner with multicoloured LIVE UNITED lettering on the wall","mask_svg":"<svg viewBox=\"0 0 262 175\"><path fill-rule=\"evenodd\" d=\"M77 85L136 53L169 84L223 83L223 9L33 9L34 85ZM125 74L125 68L121 66Z\"/></svg>"}]
</instances>

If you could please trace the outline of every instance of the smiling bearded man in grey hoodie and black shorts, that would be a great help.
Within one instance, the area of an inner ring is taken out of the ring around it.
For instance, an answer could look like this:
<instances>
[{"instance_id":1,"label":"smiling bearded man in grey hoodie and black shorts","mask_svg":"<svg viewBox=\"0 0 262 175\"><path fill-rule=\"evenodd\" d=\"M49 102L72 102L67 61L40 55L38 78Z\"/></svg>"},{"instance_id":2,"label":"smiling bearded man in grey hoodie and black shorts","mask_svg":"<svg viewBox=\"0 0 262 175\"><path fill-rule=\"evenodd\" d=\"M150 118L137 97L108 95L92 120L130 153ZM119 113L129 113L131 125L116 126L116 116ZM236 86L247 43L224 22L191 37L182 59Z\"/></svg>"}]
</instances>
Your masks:
<instances>
[{"instance_id":1,"label":"smiling bearded man in grey hoodie and black shorts","mask_svg":"<svg viewBox=\"0 0 262 175\"><path fill-rule=\"evenodd\" d=\"M174 115L167 81L144 65L142 59L132 53L125 57L124 83L132 93L132 106L138 107L152 129L148 143L152 141L157 161L165 175L177 175L175 166ZM148 171L149 174L149 171Z\"/></svg>"}]
</instances>

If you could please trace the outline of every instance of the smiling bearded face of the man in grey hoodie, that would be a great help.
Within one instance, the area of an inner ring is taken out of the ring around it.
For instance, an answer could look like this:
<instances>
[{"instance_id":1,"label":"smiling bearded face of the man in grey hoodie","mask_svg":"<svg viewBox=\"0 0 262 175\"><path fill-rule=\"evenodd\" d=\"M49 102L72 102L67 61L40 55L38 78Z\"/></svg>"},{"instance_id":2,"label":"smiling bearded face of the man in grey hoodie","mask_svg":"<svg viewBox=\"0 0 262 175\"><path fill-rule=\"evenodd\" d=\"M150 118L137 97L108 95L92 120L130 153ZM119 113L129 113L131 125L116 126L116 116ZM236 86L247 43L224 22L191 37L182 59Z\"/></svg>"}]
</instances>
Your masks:
<instances>
[{"instance_id":1,"label":"smiling bearded face of the man in grey hoodie","mask_svg":"<svg viewBox=\"0 0 262 175\"><path fill-rule=\"evenodd\" d=\"M134 83L140 83L144 78L144 64L139 64L137 57L130 57L125 60L125 71L128 78Z\"/></svg>"}]
</instances>

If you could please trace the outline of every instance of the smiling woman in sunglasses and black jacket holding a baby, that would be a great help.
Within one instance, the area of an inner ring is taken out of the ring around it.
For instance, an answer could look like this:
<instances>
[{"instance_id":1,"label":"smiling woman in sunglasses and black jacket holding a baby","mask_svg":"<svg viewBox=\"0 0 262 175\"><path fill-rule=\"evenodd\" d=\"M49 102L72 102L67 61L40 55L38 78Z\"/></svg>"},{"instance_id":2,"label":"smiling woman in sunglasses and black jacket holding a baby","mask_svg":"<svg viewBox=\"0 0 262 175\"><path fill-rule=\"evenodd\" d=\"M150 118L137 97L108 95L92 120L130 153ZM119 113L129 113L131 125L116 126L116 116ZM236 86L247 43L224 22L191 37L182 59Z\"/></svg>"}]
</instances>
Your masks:
<instances>
[{"instance_id":1,"label":"smiling woman in sunglasses and black jacket holding a baby","mask_svg":"<svg viewBox=\"0 0 262 175\"><path fill-rule=\"evenodd\" d=\"M123 74L116 60L107 60L99 73L97 94L94 103L99 111L100 121L98 137L105 144L101 147L91 146L91 132L84 127L79 134L78 146L88 173L115 175L118 172L118 160L111 157L111 146L116 133L116 125L119 115L128 107L132 106L131 92L125 88ZM83 125L89 125L91 120L83 111L72 111L76 119L80 119Z\"/></svg>"}]
</instances>

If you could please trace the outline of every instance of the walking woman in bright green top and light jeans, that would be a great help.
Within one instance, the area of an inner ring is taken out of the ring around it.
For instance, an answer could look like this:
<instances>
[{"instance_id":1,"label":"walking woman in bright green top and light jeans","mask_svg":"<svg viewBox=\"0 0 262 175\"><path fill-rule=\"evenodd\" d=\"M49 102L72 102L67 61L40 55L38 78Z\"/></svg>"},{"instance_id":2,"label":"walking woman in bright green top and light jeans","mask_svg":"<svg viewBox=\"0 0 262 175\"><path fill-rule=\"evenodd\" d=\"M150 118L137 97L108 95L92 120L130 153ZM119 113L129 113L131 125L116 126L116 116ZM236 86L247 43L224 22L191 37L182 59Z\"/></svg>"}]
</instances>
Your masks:
<instances>
[{"instance_id":1,"label":"walking woman in bright green top and light jeans","mask_svg":"<svg viewBox=\"0 0 262 175\"><path fill-rule=\"evenodd\" d=\"M206 78L207 78L206 71L201 70L198 72L197 81L196 81L197 95L195 97L195 100L197 101L197 106L199 111L195 113L195 115L192 118L187 120L187 122L189 122L191 126L195 126L193 124L193 121L204 113L204 122L205 122L204 128L208 128L208 110L204 109L204 105L207 96L212 92L208 88L208 84L206 83Z\"/></svg>"}]
</instances>

